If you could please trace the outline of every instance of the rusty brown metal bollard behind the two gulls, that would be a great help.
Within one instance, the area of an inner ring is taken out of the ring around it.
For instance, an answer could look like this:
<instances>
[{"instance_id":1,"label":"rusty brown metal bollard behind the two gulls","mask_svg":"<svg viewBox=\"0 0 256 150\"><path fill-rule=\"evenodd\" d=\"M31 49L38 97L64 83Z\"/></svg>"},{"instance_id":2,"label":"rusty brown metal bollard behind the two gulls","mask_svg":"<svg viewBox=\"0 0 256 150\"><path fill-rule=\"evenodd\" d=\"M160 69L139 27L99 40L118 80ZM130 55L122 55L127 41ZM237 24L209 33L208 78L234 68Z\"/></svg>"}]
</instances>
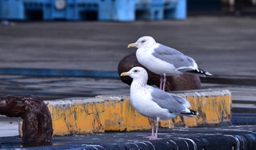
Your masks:
<instances>
[{"instance_id":1,"label":"rusty brown metal bollard behind the two gulls","mask_svg":"<svg viewBox=\"0 0 256 150\"><path fill-rule=\"evenodd\" d=\"M143 67L137 60L135 52L124 57L118 64L118 74L129 71L135 66ZM145 68L145 67L143 67ZM146 69L147 70L147 69ZM148 71L148 70L147 70ZM160 76L148 71L148 84L159 87ZM132 78L129 76L121 77L121 81L126 84L132 83ZM165 85L166 91L175 90L198 90L201 89L200 78L193 74L184 74L181 76L167 76L167 83Z\"/></svg>"}]
</instances>

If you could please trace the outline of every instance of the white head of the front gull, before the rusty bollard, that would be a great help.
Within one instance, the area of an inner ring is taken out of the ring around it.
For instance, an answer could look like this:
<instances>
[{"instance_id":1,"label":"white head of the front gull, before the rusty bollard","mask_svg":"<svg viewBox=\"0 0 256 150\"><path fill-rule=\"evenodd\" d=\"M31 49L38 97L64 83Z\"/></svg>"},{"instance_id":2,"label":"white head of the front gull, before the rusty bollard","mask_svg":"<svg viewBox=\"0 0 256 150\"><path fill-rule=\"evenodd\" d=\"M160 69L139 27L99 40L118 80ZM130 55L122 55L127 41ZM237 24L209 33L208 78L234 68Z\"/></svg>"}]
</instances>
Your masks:
<instances>
[{"instance_id":1,"label":"white head of the front gull, before the rusty bollard","mask_svg":"<svg viewBox=\"0 0 256 150\"><path fill-rule=\"evenodd\" d=\"M123 72L120 76L130 76L133 80L148 81L148 73L145 68L142 67L133 67L128 72Z\"/></svg>"}]
</instances>

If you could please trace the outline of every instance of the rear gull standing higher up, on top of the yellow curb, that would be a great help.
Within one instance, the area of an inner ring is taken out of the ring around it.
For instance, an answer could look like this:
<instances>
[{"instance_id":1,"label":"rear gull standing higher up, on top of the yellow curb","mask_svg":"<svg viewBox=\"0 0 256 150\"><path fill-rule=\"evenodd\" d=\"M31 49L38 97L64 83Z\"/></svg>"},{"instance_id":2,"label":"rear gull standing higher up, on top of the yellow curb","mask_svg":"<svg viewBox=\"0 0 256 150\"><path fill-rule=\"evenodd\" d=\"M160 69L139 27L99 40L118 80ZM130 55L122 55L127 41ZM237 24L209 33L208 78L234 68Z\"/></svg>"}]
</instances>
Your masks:
<instances>
[{"instance_id":1,"label":"rear gull standing higher up, on top of the yellow curb","mask_svg":"<svg viewBox=\"0 0 256 150\"><path fill-rule=\"evenodd\" d=\"M205 77L211 75L208 71L197 68L197 63L193 58L157 43L151 36L140 37L137 42L129 44L129 47L137 47L136 58L139 63L161 76L159 86L161 90L165 90L166 76L198 74Z\"/></svg>"}]
</instances>

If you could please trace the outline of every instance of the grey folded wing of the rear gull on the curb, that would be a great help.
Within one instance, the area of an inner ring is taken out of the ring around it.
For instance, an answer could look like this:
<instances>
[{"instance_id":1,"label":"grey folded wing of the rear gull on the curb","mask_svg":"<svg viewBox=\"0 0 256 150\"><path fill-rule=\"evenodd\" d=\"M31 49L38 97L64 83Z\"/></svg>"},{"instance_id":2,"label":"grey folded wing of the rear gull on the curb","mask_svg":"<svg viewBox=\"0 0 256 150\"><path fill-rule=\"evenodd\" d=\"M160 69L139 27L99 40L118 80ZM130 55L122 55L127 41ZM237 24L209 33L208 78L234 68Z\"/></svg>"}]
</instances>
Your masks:
<instances>
[{"instance_id":1,"label":"grey folded wing of the rear gull on the curb","mask_svg":"<svg viewBox=\"0 0 256 150\"><path fill-rule=\"evenodd\" d=\"M170 47L166 48L166 46L162 44L159 44L159 47L154 49L152 55L167 63L173 64L176 68L194 66L195 63L195 60L189 58L187 55Z\"/></svg>"}]
</instances>

